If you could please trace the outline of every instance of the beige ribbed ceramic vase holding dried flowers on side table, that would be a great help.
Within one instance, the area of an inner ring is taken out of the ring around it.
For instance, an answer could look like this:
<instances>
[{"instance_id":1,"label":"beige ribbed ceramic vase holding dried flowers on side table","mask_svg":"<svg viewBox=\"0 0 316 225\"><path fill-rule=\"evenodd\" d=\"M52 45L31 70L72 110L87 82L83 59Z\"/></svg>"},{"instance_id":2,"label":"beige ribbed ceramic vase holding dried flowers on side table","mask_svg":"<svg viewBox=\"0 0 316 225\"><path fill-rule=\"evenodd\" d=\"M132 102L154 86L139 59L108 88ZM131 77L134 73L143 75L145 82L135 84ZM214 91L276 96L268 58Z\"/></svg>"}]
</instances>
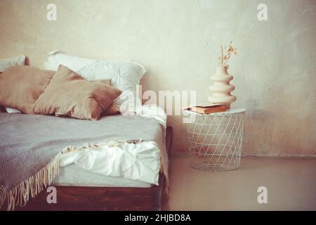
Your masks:
<instances>
[{"instance_id":1,"label":"beige ribbed ceramic vase holding dried flowers on side table","mask_svg":"<svg viewBox=\"0 0 316 225\"><path fill-rule=\"evenodd\" d=\"M226 66L218 66L216 68L216 74L211 76L214 84L209 86L209 89L213 91L213 96L209 96L209 102L211 103L224 103L226 108L230 108L230 104L236 101L236 96L230 94L235 90L235 86L230 84L233 79L232 75L227 72Z\"/></svg>"}]
</instances>

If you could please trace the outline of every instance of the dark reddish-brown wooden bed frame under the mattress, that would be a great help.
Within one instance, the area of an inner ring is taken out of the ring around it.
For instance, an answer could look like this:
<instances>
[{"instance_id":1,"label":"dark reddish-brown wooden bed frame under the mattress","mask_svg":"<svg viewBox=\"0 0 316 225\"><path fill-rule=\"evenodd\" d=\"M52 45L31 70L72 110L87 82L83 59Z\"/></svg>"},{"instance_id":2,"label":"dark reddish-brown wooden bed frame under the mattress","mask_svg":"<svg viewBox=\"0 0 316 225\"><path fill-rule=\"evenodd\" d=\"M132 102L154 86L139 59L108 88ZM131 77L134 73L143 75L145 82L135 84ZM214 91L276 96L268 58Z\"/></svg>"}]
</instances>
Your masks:
<instances>
[{"instance_id":1,"label":"dark reddish-brown wooden bed frame under the mattress","mask_svg":"<svg viewBox=\"0 0 316 225\"><path fill-rule=\"evenodd\" d=\"M170 158L172 128L166 129L166 149ZM16 207L20 211L156 211L162 209L164 176L159 176L159 186L150 188L115 188L115 187L81 187L55 186L57 203L48 204L46 191L29 200L25 207ZM4 205L3 209L6 209Z\"/></svg>"}]
</instances>

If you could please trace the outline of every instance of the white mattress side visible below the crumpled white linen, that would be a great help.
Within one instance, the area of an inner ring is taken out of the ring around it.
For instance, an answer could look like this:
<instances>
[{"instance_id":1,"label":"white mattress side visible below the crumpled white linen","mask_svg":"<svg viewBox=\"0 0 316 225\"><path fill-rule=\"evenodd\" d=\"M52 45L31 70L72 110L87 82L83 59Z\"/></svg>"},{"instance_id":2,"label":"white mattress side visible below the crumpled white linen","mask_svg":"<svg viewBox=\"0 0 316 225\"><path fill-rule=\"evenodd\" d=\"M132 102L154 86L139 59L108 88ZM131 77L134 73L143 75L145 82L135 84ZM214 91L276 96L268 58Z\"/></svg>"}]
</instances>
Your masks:
<instances>
[{"instance_id":1,"label":"white mattress side visible below the crumpled white linen","mask_svg":"<svg viewBox=\"0 0 316 225\"><path fill-rule=\"evenodd\" d=\"M127 179L119 176L103 176L88 172L72 164L60 168L60 174L55 177L53 186L91 186L91 187L124 187L150 188L152 184Z\"/></svg>"}]
</instances>

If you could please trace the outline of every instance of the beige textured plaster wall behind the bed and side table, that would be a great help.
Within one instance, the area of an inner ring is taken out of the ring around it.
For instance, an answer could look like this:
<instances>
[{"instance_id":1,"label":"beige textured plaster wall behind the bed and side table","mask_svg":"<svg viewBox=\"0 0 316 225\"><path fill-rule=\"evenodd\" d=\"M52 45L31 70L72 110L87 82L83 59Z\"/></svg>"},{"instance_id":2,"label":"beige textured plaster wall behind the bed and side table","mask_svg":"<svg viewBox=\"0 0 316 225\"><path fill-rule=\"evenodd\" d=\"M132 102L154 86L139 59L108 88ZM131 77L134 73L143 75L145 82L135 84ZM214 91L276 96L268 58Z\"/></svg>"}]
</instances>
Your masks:
<instances>
[{"instance_id":1,"label":"beige textured plaster wall behind the bed and side table","mask_svg":"<svg viewBox=\"0 0 316 225\"><path fill-rule=\"evenodd\" d=\"M46 20L48 3L58 20ZM257 6L268 6L268 21ZM0 0L0 58L25 54L43 67L63 49L88 58L145 65L145 89L210 94L218 46L240 49L230 73L237 102L248 109L244 155L316 155L315 0ZM185 127L174 150L187 150Z\"/></svg>"}]
</instances>

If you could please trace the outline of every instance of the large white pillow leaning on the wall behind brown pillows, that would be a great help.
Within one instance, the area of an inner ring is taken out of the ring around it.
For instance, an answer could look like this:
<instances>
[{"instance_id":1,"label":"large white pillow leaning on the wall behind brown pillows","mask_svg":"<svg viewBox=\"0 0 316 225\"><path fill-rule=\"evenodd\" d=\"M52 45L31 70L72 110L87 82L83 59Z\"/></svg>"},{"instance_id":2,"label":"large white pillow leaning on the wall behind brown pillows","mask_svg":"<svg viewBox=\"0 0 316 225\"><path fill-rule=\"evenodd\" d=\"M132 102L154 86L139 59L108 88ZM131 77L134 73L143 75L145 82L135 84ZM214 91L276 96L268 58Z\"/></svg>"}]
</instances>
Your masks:
<instances>
[{"instance_id":1,"label":"large white pillow leaning on the wall behind brown pillows","mask_svg":"<svg viewBox=\"0 0 316 225\"><path fill-rule=\"evenodd\" d=\"M112 86L123 91L115 101L117 105L121 105L126 100L131 101L132 98L138 98L136 96L136 86L140 84L140 79L146 72L145 68L138 63L117 60L91 60L77 56L67 56L62 51L52 51L48 55L50 55L48 61L44 63L46 70L57 70L61 64L88 80L111 79Z\"/></svg>"}]
</instances>

